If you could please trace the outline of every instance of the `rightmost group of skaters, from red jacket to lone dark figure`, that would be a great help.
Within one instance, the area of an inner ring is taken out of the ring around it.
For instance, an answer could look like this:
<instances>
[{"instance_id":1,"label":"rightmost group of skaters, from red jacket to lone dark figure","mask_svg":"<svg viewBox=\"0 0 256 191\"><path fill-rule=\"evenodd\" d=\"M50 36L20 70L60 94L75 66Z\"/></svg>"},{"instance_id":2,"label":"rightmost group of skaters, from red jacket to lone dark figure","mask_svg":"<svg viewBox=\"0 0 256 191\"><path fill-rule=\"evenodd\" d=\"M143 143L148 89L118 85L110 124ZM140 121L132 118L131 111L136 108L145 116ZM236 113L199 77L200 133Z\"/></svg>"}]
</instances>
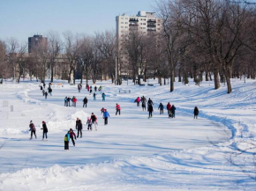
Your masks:
<instances>
[{"instance_id":1,"label":"rightmost group of skaters, from red jacket to lone dark figure","mask_svg":"<svg viewBox=\"0 0 256 191\"><path fill-rule=\"evenodd\" d=\"M148 119L152 118L152 114L154 112L154 103L152 99L149 98L147 100L144 96L142 96L141 98L138 97L137 99L135 99L134 102L137 103L137 107L139 107L139 103L141 102L142 111L146 111L147 103ZM171 104L168 102L166 109L169 118L175 118L176 107L174 105L171 106ZM162 103L159 104L158 110L160 110L160 114L163 114L164 106L162 105ZM198 119L198 115L200 114L198 107L194 107L193 114L194 119Z\"/></svg>"}]
</instances>

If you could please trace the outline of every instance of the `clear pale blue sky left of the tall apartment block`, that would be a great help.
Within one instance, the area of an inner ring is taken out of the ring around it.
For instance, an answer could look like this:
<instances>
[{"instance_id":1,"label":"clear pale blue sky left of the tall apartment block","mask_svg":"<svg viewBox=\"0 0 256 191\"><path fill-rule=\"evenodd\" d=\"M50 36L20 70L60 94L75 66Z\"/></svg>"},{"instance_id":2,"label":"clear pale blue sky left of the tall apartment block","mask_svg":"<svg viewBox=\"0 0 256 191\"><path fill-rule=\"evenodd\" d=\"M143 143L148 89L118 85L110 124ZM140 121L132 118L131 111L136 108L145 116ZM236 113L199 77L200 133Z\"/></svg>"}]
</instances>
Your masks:
<instances>
[{"instance_id":1,"label":"clear pale blue sky left of the tall apartment block","mask_svg":"<svg viewBox=\"0 0 256 191\"><path fill-rule=\"evenodd\" d=\"M154 0L0 0L0 39L26 41L49 30L93 34L116 28L124 12L154 11Z\"/></svg>"}]
</instances>

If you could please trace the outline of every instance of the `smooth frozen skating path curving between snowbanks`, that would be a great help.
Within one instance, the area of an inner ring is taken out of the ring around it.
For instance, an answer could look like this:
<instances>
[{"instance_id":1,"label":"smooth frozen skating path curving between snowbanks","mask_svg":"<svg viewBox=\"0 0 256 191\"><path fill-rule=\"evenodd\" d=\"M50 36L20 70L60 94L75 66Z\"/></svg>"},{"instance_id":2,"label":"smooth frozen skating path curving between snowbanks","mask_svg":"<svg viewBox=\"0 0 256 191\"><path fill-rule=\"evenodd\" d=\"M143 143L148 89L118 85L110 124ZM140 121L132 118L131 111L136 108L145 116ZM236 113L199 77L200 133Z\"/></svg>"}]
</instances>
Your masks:
<instances>
[{"instance_id":1,"label":"smooth frozen skating path curving between snowbanks","mask_svg":"<svg viewBox=\"0 0 256 191\"><path fill-rule=\"evenodd\" d=\"M38 86L31 85L26 88L30 91L25 94L20 91L10 97L14 102L15 99L20 99L22 106L17 107L26 115L26 121L24 118L20 121L21 134L13 135L8 132L8 136L2 137L4 147L1 150L0 173L15 172L27 167L87 165L132 156L152 156L225 142L231 136L226 127L204 119L193 120L192 115L180 113L178 107L176 119L169 119L166 110L164 115L159 114L158 104L155 103L153 118L148 119L147 112L142 112L141 107L136 107L132 101L142 94L134 92L123 98L111 84L105 84L105 102L102 102L100 94L93 101L93 96L85 89L79 93L77 86L54 87L53 96L48 99L42 97ZM64 97L73 95L78 98L77 107L64 107ZM85 96L89 99L88 106L82 108L82 99ZM26 99L26 103L22 99ZM159 100L161 97L155 99ZM121 106L120 116L115 115L116 103ZM102 107L107 108L110 114L108 126L103 125L100 111ZM85 123L87 114L92 112L98 117L99 126L98 131L91 132L87 131ZM70 143L70 151L64 151L64 135L68 129L75 129L76 117L80 117L84 123L83 137L78 138L76 147ZM42 132L39 126L38 139L29 140L27 129L30 120L36 126L41 125L42 120L47 122L48 142L41 141ZM13 117L12 122L19 126L19 118Z\"/></svg>"}]
</instances>

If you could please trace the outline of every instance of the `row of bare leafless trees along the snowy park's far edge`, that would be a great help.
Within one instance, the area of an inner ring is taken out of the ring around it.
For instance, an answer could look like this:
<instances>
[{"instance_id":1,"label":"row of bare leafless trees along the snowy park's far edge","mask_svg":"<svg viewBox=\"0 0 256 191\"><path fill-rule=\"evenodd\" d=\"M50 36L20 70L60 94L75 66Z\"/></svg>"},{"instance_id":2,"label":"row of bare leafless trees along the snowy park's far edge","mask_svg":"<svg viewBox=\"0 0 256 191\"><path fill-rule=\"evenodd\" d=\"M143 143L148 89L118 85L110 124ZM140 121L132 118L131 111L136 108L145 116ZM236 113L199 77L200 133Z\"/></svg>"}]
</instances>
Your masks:
<instances>
[{"instance_id":1,"label":"row of bare leafless trees along the snowy park's far edge","mask_svg":"<svg viewBox=\"0 0 256 191\"><path fill-rule=\"evenodd\" d=\"M42 81L57 72L75 82L81 79L111 78L117 84L132 77L134 84L158 77L159 83L170 79L174 91L179 82L195 83L214 80L215 89L226 83L232 92L230 78L255 79L256 11L252 4L228 0L178 0L157 3L162 19L161 33L130 30L117 37L112 31L94 35L66 32L63 38L48 33L48 47L37 48L27 56L27 45L18 40L0 41L1 77L30 75ZM117 58L117 66L116 66ZM56 64L61 70L56 71ZM213 77L213 78L212 78Z\"/></svg>"}]
</instances>

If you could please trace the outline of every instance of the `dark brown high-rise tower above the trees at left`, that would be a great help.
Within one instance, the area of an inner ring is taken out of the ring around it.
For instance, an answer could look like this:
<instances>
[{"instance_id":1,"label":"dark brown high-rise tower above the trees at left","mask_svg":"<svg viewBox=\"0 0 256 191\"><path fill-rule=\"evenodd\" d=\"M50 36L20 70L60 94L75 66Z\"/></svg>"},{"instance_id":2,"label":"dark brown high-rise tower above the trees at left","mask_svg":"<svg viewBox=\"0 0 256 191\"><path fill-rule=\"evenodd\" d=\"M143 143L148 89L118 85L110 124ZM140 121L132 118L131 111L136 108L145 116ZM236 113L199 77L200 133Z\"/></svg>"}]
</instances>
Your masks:
<instances>
[{"instance_id":1,"label":"dark brown high-rise tower above the trees at left","mask_svg":"<svg viewBox=\"0 0 256 191\"><path fill-rule=\"evenodd\" d=\"M34 53L37 48L47 48L48 40L42 35L34 35L28 38L28 53Z\"/></svg>"}]
</instances>

